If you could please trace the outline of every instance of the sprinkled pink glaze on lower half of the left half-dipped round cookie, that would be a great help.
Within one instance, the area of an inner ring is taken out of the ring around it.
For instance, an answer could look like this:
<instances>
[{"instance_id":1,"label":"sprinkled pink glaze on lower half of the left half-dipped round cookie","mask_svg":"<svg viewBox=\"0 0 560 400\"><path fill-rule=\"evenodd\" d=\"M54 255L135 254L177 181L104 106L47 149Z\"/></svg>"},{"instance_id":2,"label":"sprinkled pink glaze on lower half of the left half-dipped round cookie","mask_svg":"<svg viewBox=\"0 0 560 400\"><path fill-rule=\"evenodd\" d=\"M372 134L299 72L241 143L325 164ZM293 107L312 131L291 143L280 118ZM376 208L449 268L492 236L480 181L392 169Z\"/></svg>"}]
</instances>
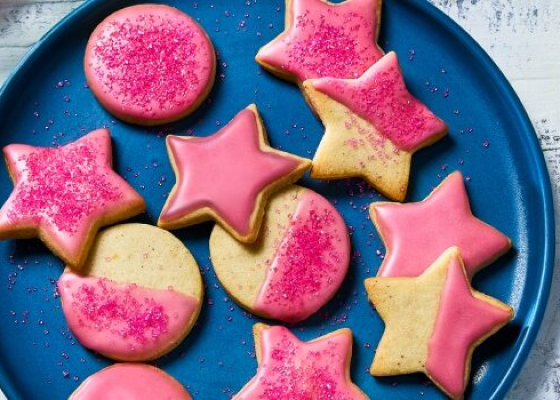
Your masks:
<instances>
[{"instance_id":1,"label":"sprinkled pink glaze on lower half of the left half-dipped round cookie","mask_svg":"<svg viewBox=\"0 0 560 400\"><path fill-rule=\"evenodd\" d=\"M150 358L181 338L198 300L174 290L119 284L64 272L58 280L64 316L85 347L111 357Z\"/></svg>"}]
</instances>

